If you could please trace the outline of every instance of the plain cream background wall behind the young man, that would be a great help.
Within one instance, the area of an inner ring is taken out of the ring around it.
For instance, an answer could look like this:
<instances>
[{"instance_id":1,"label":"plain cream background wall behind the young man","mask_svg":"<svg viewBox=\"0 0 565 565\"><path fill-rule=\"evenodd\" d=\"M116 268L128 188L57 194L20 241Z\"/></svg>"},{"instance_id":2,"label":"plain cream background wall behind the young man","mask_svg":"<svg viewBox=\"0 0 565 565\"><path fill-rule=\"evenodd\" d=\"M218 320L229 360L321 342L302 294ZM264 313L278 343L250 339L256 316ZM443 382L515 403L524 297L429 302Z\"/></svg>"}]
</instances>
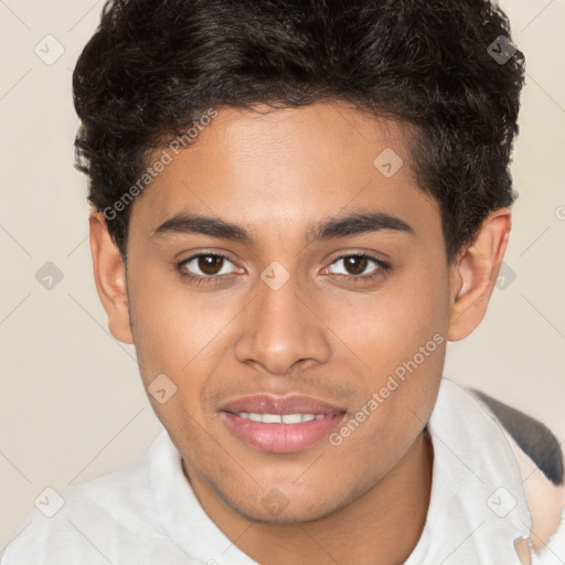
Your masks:
<instances>
[{"instance_id":1,"label":"plain cream background wall behind the young man","mask_svg":"<svg viewBox=\"0 0 565 565\"><path fill-rule=\"evenodd\" d=\"M475 333L449 344L444 375L542 419L563 441L565 0L501 6L527 60L520 199L505 279ZM107 331L86 179L73 169L72 70L102 7L0 0L0 547L46 487L61 492L117 469L160 430L134 349ZM35 278L47 262L64 277L51 290Z\"/></svg>"}]
</instances>

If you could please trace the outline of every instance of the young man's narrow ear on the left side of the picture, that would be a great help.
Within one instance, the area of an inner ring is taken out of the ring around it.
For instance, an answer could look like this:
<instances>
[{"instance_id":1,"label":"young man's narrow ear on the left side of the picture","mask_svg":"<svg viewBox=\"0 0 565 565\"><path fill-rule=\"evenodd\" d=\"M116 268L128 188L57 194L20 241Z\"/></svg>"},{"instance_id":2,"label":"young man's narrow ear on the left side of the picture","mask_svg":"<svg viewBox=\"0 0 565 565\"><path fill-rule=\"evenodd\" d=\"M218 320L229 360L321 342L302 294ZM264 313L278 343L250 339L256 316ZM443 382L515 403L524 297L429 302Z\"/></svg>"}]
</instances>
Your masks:
<instances>
[{"instance_id":1,"label":"young man's narrow ear on the left side of the picture","mask_svg":"<svg viewBox=\"0 0 565 565\"><path fill-rule=\"evenodd\" d=\"M108 329L118 341L132 344L124 260L104 215L92 212L88 222L96 290L108 315Z\"/></svg>"}]
</instances>

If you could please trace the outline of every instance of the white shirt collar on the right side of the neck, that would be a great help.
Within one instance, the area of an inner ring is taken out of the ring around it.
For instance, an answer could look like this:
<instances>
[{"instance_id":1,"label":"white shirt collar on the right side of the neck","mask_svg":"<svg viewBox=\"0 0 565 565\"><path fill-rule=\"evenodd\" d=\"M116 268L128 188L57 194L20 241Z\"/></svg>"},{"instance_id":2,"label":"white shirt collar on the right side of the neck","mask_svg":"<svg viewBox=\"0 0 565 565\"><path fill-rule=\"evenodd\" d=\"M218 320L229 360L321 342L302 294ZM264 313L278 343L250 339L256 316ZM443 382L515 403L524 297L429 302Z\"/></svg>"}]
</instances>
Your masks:
<instances>
[{"instance_id":1,"label":"white shirt collar on the right side of the neck","mask_svg":"<svg viewBox=\"0 0 565 565\"><path fill-rule=\"evenodd\" d=\"M520 564L514 540L530 535L532 520L500 424L444 379L427 427L434 446L430 504L405 565Z\"/></svg>"}]
</instances>

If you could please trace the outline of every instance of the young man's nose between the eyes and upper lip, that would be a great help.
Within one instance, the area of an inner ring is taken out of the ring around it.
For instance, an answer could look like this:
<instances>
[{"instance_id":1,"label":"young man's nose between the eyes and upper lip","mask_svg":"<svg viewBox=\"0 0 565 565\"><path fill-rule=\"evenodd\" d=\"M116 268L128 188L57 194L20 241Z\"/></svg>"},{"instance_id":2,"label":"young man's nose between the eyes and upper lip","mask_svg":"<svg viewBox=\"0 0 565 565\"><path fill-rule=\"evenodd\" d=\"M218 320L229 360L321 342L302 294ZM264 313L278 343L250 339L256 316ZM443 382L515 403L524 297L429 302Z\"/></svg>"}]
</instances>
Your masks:
<instances>
[{"instance_id":1,"label":"young man's nose between the eyes and upper lip","mask_svg":"<svg viewBox=\"0 0 565 565\"><path fill-rule=\"evenodd\" d=\"M301 291L296 277L277 289L260 280L256 298L241 318L235 355L258 363L271 374L285 374L301 362L324 363L331 354L320 301Z\"/></svg>"}]
</instances>

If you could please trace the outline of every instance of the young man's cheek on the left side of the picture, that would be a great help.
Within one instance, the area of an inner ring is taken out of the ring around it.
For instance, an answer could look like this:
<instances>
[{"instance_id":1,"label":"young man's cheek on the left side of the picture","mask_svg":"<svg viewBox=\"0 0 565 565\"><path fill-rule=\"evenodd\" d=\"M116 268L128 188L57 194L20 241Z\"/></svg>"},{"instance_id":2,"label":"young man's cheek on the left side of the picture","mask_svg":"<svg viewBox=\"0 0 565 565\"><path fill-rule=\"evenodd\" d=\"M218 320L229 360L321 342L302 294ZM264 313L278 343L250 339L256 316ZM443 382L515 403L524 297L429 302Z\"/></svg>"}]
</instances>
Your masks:
<instances>
[{"instance_id":1,"label":"young man's cheek on the left side of the picture","mask_svg":"<svg viewBox=\"0 0 565 565\"><path fill-rule=\"evenodd\" d=\"M142 271L131 269L129 299L145 386L164 374L177 387L166 404L150 398L156 413L170 426L206 420L211 414L204 398L218 386L218 366L230 363L233 335L226 328L241 306L222 292L195 292L180 278L147 265Z\"/></svg>"}]
</instances>

